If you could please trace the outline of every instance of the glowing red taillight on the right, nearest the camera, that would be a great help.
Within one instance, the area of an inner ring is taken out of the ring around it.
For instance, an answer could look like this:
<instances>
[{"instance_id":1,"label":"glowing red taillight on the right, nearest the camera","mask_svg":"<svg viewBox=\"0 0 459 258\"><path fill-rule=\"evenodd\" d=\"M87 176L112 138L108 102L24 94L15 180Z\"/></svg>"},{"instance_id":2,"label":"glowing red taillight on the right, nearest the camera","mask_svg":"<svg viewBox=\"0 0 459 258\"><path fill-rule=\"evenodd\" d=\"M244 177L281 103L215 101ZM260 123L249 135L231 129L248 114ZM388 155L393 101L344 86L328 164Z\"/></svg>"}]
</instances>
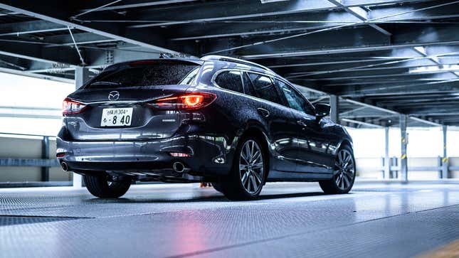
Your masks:
<instances>
[{"instance_id":1,"label":"glowing red taillight on the right, nearest the camera","mask_svg":"<svg viewBox=\"0 0 459 258\"><path fill-rule=\"evenodd\" d=\"M164 97L154 102L148 103L156 109L200 109L206 107L215 100L217 96L208 92L192 92L184 95Z\"/></svg>"}]
</instances>

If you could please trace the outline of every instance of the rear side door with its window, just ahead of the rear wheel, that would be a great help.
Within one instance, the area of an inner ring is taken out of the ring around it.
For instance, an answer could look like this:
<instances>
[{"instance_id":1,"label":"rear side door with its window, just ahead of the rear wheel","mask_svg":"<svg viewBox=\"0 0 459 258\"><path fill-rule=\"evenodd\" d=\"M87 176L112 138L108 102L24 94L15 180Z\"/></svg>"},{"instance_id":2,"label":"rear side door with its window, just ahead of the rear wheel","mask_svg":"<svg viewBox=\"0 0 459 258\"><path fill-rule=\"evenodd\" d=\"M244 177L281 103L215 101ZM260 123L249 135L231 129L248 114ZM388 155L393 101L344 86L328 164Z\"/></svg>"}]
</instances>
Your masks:
<instances>
[{"instance_id":1,"label":"rear side door with its window, just ahead of the rear wheel","mask_svg":"<svg viewBox=\"0 0 459 258\"><path fill-rule=\"evenodd\" d=\"M295 124L290 109L283 106L273 80L259 73L245 72L243 84L247 95L265 101L257 101L255 109L263 117L272 141L270 149L273 156L272 171L295 171L297 143L295 141ZM270 176L275 175L271 173Z\"/></svg>"}]
</instances>

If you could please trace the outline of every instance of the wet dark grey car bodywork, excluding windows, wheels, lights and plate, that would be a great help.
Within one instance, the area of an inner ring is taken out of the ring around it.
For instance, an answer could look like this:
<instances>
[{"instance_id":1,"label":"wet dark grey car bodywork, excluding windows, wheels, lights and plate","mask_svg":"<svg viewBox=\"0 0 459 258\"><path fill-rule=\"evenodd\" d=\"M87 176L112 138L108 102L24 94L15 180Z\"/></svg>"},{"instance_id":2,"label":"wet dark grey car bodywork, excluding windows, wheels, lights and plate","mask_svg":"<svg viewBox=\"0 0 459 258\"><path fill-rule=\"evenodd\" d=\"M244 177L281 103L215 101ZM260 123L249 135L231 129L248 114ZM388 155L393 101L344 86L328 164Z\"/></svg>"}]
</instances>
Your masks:
<instances>
[{"instance_id":1,"label":"wet dark grey car bodywork, excluding windows, wheels, lights and plate","mask_svg":"<svg viewBox=\"0 0 459 258\"><path fill-rule=\"evenodd\" d=\"M319 181L332 178L339 147L352 146L344 127L329 119L292 109L285 98L275 103L248 94L250 77L257 76L268 77L277 90L280 83L295 90L287 80L258 65L221 57L141 60L112 65L103 72L152 63L192 65L197 72L187 85L91 88L91 80L70 94L68 100L84 108L65 114L58 133L58 161L65 170L141 181L215 181L231 171L239 139L250 132L262 136L267 146L266 181ZM241 75L243 92L219 87L216 77L221 72ZM189 110L151 105L184 92L204 92L215 99L206 107ZM117 94L117 100L110 100L110 94ZM307 105L314 113L315 107ZM130 125L102 127L102 112L110 108L132 109ZM174 168L177 162L183 169Z\"/></svg>"}]
</instances>

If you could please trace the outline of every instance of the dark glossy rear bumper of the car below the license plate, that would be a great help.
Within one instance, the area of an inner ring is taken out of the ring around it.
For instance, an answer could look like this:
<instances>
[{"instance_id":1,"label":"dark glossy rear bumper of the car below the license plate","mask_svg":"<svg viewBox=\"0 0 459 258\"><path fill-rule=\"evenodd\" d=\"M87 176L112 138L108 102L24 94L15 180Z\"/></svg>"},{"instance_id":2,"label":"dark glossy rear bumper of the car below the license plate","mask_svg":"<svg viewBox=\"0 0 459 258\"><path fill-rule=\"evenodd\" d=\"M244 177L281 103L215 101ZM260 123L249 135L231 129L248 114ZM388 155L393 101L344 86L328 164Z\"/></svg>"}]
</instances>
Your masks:
<instances>
[{"instance_id":1,"label":"dark glossy rear bumper of the car below the license plate","mask_svg":"<svg viewBox=\"0 0 459 258\"><path fill-rule=\"evenodd\" d=\"M110 171L126 175L182 176L172 166L181 162L184 173L196 176L225 175L231 167L231 148L225 137L186 135L154 141L66 141L57 139L59 163L68 171ZM171 153L189 156L172 156Z\"/></svg>"}]
</instances>

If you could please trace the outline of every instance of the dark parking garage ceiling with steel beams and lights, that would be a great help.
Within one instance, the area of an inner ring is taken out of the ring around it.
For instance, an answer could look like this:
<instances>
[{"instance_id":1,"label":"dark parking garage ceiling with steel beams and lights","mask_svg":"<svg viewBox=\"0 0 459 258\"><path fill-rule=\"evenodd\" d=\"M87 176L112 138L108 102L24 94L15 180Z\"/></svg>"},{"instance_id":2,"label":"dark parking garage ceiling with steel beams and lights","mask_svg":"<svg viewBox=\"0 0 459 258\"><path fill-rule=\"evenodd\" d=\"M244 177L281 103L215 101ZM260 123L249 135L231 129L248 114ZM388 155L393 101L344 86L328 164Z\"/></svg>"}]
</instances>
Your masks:
<instances>
[{"instance_id":1,"label":"dark parking garage ceiling with steel beams and lights","mask_svg":"<svg viewBox=\"0 0 459 258\"><path fill-rule=\"evenodd\" d=\"M229 55L355 127L459 125L459 1L0 1L0 71L71 81L75 66Z\"/></svg>"}]
</instances>

